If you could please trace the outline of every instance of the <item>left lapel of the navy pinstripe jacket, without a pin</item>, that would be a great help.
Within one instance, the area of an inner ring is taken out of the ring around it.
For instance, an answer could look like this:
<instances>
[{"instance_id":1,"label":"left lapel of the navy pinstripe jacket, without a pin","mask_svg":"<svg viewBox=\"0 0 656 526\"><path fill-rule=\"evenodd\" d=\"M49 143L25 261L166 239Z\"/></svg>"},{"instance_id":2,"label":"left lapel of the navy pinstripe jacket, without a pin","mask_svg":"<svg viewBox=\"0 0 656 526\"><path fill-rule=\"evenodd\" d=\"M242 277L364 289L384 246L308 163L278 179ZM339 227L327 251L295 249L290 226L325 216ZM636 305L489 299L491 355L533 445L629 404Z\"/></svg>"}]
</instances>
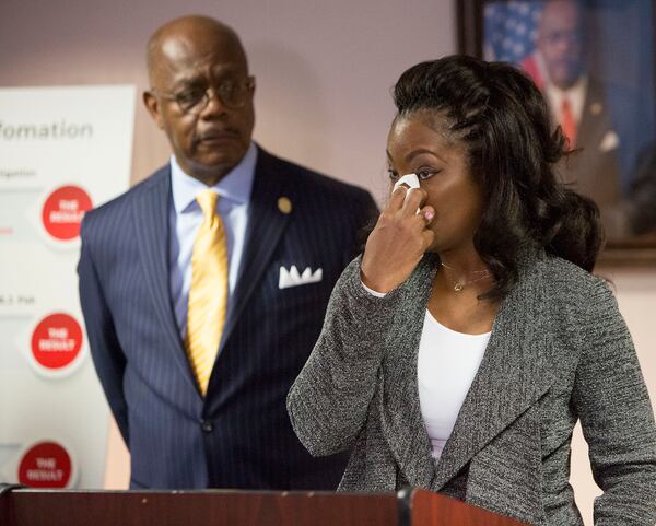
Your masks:
<instances>
[{"instance_id":1,"label":"left lapel of the navy pinstripe jacket, without a pin","mask_svg":"<svg viewBox=\"0 0 656 526\"><path fill-rule=\"evenodd\" d=\"M168 206L171 201L171 167L153 175L150 187L139 196L133 213L133 224L139 239L140 260L144 280L152 295L155 314L169 342L167 351L173 354L183 375L198 391L192 377L185 347L175 322L171 288L168 283Z\"/></svg>"}]
</instances>

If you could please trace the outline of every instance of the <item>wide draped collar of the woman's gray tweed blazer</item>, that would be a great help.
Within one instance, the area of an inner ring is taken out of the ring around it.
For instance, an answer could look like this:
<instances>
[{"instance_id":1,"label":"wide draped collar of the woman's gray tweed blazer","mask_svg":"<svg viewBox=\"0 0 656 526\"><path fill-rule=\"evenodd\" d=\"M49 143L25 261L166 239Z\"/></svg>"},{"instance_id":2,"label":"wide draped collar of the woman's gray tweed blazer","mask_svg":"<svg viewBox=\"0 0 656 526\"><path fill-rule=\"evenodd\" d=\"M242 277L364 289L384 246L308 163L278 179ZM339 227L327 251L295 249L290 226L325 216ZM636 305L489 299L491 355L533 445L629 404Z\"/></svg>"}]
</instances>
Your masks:
<instances>
[{"instance_id":1,"label":"wide draped collar of the woman's gray tweed blazer","mask_svg":"<svg viewBox=\"0 0 656 526\"><path fill-rule=\"evenodd\" d=\"M411 486L438 491L549 389L553 378L546 363L543 315L548 299L537 265L542 257L529 249L522 253L518 281L502 301L483 361L438 463L431 455L417 385L422 322L437 258L424 257L405 285L386 343L382 413L384 433Z\"/></svg>"}]
</instances>

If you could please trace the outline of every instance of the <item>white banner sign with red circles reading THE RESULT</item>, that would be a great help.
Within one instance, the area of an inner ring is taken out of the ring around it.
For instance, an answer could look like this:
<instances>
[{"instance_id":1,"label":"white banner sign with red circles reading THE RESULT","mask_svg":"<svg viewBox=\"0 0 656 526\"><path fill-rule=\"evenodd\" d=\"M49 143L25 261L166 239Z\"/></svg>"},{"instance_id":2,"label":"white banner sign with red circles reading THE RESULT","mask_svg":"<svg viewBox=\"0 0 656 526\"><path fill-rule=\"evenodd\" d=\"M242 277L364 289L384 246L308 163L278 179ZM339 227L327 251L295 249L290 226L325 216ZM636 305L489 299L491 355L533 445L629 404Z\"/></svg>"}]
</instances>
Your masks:
<instances>
[{"instance_id":1,"label":"white banner sign with red circles reading THE RESULT","mask_svg":"<svg viewBox=\"0 0 656 526\"><path fill-rule=\"evenodd\" d=\"M0 89L0 481L102 488L80 222L128 188L133 86Z\"/></svg>"}]
</instances>

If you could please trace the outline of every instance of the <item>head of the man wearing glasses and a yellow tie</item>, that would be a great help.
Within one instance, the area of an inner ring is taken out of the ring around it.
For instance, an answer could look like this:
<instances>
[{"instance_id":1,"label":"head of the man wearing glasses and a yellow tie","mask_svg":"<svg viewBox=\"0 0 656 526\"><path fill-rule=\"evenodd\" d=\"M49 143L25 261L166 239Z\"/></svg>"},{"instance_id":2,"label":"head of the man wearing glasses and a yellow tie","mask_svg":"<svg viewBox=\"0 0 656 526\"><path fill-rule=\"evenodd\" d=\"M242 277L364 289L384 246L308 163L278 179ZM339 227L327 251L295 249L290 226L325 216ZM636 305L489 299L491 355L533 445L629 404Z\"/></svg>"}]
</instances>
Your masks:
<instances>
[{"instance_id":1,"label":"head of the man wearing glasses and a yellow tie","mask_svg":"<svg viewBox=\"0 0 656 526\"><path fill-rule=\"evenodd\" d=\"M183 171L211 186L250 147L255 78L237 34L207 16L184 16L148 43L143 102Z\"/></svg>"}]
</instances>

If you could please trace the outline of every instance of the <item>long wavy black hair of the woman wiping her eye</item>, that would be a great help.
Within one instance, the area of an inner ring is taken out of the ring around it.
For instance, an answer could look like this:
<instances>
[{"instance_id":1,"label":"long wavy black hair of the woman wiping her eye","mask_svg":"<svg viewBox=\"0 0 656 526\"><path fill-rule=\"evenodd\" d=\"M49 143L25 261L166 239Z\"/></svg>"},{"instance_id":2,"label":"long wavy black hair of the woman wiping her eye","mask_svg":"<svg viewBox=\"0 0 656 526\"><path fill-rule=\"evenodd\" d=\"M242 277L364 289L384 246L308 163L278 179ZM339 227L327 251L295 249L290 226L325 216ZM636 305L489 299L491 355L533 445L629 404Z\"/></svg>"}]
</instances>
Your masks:
<instances>
[{"instance_id":1,"label":"long wavy black hair of the woman wiping her eye","mask_svg":"<svg viewBox=\"0 0 656 526\"><path fill-rule=\"evenodd\" d=\"M421 62L394 87L398 115L431 110L467 144L483 212L475 247L494 274L482 297L503 297L517 279L517 256L543 247L591 271L604 234L597 206L561 184L566 155L549 108L530 79L508 63L450 56Z\"/></svg>"}]
</instances>

